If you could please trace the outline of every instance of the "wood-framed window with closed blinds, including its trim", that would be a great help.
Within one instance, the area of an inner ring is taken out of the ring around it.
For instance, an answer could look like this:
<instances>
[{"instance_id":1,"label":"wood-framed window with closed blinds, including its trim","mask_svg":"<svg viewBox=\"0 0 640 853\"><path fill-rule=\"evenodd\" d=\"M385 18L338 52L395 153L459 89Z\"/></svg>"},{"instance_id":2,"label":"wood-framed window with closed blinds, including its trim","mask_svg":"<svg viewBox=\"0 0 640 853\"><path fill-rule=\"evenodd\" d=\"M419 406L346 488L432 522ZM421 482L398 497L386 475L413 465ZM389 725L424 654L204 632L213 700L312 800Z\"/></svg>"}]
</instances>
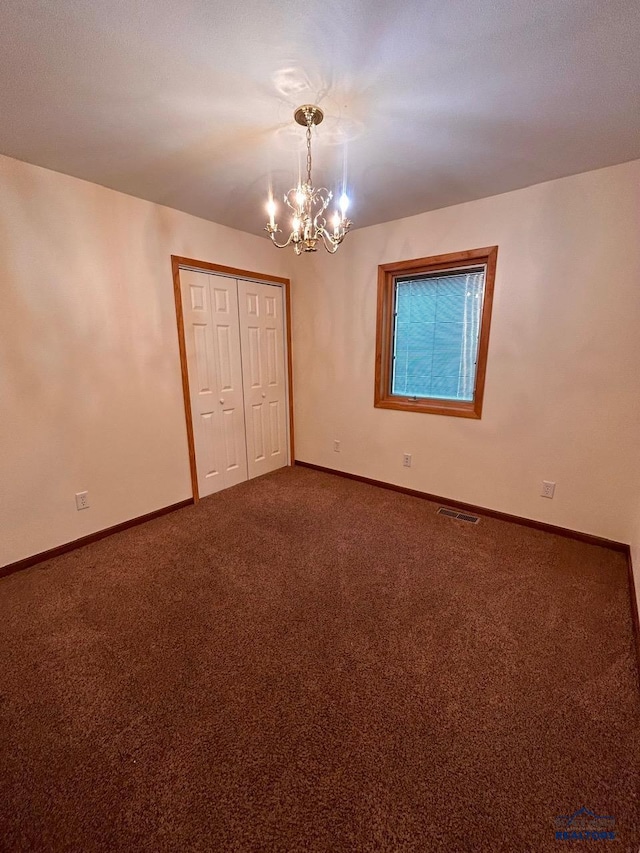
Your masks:
<instances>
[{"instance_id":1,"label":"wood-framed window with closed blinds, including its trim","mask_svg":"<svg viewBox=\"0 0 640 853\"><path fill-rule=\"evenodd\" d=\"M374 404L482 415L498 247L378 267Z\"/></svg>"}]
</instances>

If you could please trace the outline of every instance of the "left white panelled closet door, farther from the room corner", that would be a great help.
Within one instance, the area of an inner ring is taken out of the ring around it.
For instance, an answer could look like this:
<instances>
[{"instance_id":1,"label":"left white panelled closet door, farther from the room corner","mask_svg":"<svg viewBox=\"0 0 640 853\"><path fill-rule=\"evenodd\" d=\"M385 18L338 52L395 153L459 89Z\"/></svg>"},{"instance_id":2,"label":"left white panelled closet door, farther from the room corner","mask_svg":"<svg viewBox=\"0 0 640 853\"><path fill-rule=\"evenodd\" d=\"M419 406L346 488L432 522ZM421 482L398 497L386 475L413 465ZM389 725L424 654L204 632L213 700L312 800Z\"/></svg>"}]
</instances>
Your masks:
<instances>
[{"instance_id":1,"label":"left white panelled closet door, farther from the room corner","mask_svg":"<svg viewBox=\"0 0 640 853\"><path fill-rule=\"evenodd\" d=\"M189 392L205 497L247 479L237 282L180 271Z\"/></svg>"}]
</instances>

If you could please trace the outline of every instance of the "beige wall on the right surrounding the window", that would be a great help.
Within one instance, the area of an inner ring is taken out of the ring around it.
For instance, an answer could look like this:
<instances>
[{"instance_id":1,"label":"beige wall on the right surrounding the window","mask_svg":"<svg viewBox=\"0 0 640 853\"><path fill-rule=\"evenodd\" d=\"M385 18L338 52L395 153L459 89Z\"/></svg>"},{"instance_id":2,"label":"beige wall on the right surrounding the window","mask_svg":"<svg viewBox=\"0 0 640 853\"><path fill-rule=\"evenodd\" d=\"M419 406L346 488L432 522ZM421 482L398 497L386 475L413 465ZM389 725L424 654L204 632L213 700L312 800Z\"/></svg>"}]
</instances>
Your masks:
<instances>
[{"instance_id":1,"label":"beige wall on the right surrounding the window","mask_svg":"<svg viewBox=\"0 0 640 853\"><path fill-rule=\"evenodd\" d=\"M335 257L296 259L297 458L631 541L639 184L637 161L355 230ZM374 409L377 265L496 244L482 420Z\"/></svg>"}]
</instances>

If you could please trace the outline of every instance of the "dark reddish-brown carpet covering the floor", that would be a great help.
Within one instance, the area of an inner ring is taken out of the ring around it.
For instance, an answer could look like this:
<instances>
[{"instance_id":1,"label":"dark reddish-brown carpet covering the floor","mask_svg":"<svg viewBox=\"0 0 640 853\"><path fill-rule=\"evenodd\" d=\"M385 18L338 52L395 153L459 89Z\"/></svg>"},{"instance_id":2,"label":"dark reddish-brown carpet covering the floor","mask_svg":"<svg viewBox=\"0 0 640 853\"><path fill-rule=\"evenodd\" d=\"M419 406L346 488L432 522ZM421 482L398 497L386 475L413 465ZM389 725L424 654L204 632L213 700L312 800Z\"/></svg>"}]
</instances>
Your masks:
<instances>
[{"instance_id":1,"label":"dark reddish-brown carpet covering the floor","mask_svg":"<svg viewBox=\"0 0 640 853\"><path fill-rule=\"evenodd\" d=\"M1 849L636 851L624 556L435 509L286 469L0 581Z\"/></svg>"}]
</instances>

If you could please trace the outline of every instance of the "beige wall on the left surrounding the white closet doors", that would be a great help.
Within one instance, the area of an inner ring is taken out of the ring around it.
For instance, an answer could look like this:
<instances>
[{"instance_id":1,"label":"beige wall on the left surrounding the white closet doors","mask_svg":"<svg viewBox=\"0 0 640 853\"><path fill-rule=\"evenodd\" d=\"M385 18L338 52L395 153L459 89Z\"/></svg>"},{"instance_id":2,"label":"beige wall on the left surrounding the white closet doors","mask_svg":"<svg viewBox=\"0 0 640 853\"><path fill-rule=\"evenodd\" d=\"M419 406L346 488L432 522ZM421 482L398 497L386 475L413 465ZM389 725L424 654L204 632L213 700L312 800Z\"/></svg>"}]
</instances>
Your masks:
<instances>
[{"instance_id":1,"label":"beige wall on the left surrounding the white closet doors","mask_svg":"<svg viewBox=\"0 0 640 853\"><path fill-rule=\"evenodd\" d=\"M170 255L275 275L286 258L6 157L0 187L5 565L190 497Z\"/></svg>"}]
</instances>

